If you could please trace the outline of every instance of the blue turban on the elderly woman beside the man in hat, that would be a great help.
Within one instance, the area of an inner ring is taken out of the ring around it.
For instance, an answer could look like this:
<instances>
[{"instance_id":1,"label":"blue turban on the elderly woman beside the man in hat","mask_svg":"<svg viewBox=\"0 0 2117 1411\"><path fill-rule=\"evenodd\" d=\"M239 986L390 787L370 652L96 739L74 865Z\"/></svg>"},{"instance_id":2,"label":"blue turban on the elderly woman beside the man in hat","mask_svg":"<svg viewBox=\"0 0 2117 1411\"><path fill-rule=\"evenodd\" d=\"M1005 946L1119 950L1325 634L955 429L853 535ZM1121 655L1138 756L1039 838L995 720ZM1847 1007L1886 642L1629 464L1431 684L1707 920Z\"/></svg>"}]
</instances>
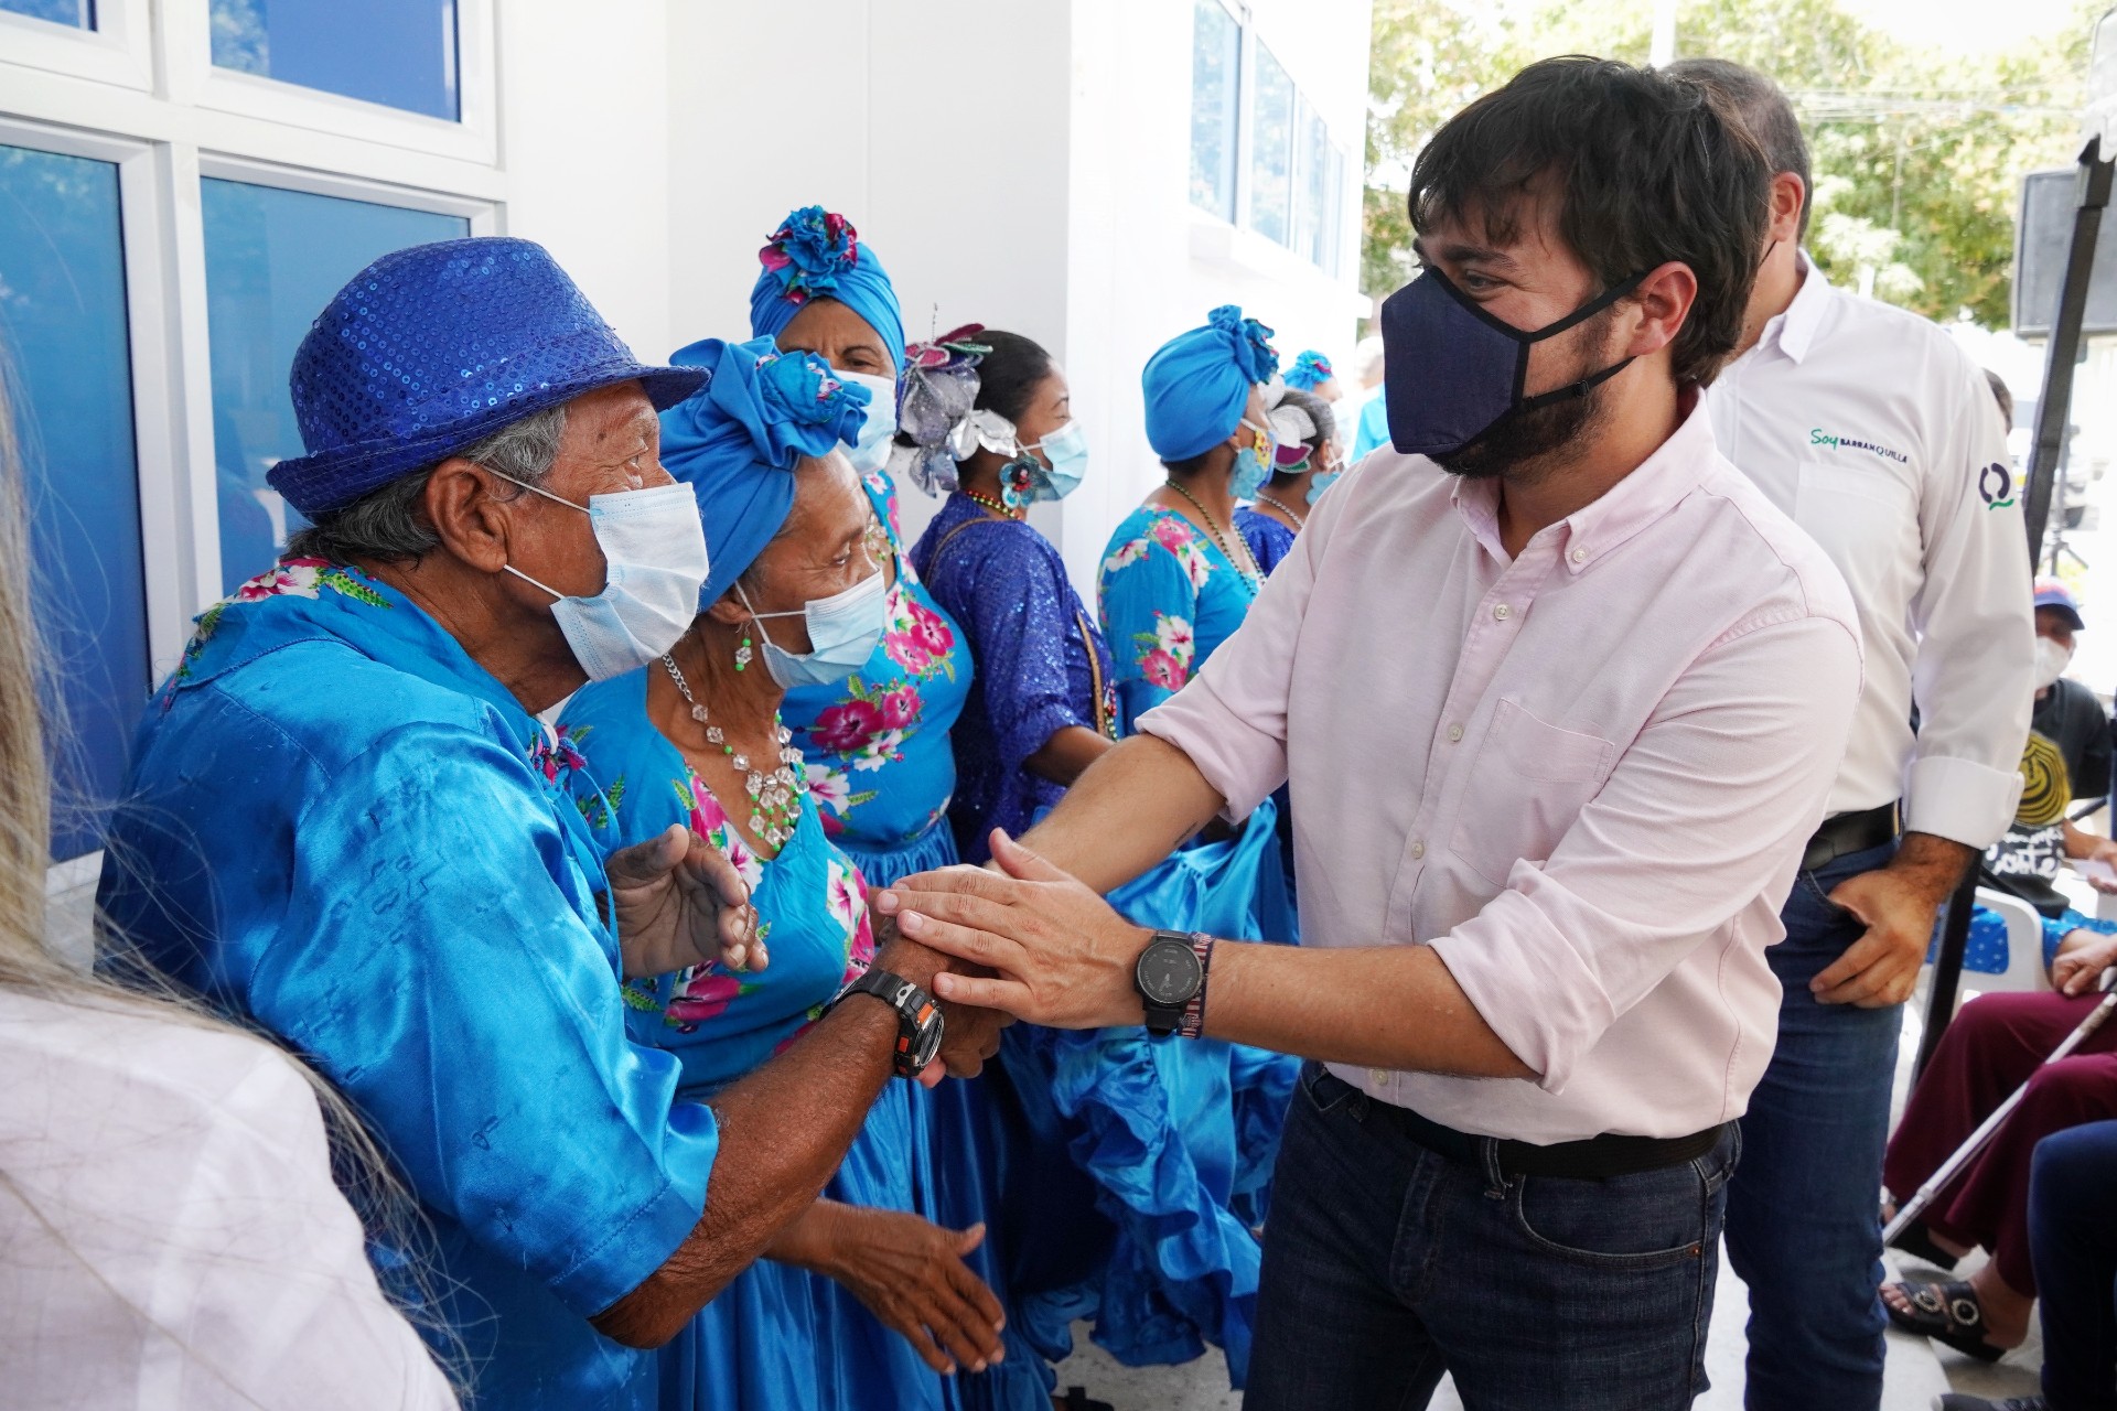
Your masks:
<instances>
[{"instance_id":1,"label":"blue turban on the elderly woman beside the man in hat","mask_svg":"<svg viewBox=\"0 0 2117 1411\"><path fill-rule=\"evenodd\" d=\"M705 368L705 387L663 413L663 465L699 497L713 571L699 611L720 601L794 512L794 468L860 440L868 389L815 353L771 338L703 338L669 360Z\"/></svg>"}]
</instances>

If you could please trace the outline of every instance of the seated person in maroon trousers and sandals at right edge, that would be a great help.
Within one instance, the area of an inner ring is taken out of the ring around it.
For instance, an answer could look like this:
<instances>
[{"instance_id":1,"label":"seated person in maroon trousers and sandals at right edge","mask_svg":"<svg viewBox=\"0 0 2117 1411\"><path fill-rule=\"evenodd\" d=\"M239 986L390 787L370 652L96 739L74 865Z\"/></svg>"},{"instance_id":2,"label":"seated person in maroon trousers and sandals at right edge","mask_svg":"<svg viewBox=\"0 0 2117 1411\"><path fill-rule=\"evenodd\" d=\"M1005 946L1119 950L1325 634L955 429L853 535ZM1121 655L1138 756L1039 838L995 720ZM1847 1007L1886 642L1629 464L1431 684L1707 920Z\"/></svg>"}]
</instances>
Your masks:
<instances>
[{"instance_id":1,"label":"seated person in maroon trousers and sandals at right edge","mask_svg":"<svg viewBox=\"0 0 2117 1411\"><path fill-rule=\"evenodd\" d=\"M2100 1003L2096 984L2111 965L2117 937L2075 935L2051 967L2056 994L1979 994L1941 1034L1888 1140L1882 1183L1893 1195L1907 1199L2024 1081L2028 1096L1924 1221L1897 1238L1897 1248L1941 1269L1975 1246L1992 1261L1969 1280L1884 1284L1882 1303L1899 1328L1986 1362L2028 1335L2037 1299L2030 1155L2051 1132L2117 1117L2117 1024L2056 1064L2043 1060Z\"/></svg>"}]
</instances>

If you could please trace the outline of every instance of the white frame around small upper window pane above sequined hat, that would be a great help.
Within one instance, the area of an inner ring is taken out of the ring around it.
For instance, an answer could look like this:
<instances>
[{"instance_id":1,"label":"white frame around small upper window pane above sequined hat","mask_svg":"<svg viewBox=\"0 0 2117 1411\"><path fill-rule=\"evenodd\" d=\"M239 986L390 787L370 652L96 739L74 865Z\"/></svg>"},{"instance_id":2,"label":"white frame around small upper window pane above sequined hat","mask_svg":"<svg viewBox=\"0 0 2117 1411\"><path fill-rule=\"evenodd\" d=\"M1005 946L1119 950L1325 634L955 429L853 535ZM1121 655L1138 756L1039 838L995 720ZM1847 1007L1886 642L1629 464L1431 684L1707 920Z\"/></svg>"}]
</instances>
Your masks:
<instances>
[{"instance_id":1,"label":"white frame around small upper window pane above sequined hat","mask_svg":"<svg viewBox=\"0 0 2117 1411\"><path fill-rule=\"evenodd\" d=\"M216 68L210 0L163 0L161 42L176 102L455 161L500 157L493 0L455 0L455 123Z\"/></svg>"}]
</instances>

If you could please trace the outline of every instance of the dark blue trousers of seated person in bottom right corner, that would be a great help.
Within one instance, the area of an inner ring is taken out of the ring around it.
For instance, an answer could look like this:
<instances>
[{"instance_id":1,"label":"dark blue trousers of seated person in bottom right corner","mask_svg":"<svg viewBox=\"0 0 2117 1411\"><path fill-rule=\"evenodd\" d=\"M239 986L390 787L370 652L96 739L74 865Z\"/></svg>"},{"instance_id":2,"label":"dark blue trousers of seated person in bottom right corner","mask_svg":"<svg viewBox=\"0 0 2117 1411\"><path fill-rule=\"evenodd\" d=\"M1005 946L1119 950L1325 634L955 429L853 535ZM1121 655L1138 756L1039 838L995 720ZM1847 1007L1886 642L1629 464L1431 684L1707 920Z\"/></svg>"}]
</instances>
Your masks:
<instances>
[{"instance_id":1,"label":"dark blue trousers of seated person in bottom right corner","mask_svg":"<svg viewBox=\"0 0 2117 1411\"><path fill-rule=\"evenodd\" d=\"M2037 1142L2028 1254L2051 1411L2117 1411L2117 1121Z\"/></svg>"}]
</instances>

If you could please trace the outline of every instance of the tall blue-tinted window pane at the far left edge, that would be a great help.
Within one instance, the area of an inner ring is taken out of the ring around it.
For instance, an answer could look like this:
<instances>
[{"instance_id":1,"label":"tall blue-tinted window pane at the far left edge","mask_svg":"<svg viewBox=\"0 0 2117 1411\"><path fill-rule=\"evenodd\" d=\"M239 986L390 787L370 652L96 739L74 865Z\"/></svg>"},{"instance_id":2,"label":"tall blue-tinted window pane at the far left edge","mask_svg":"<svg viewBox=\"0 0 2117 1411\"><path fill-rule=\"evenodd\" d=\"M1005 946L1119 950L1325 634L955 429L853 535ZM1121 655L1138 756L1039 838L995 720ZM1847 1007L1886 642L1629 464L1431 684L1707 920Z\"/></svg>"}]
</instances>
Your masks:
<instances>
[{"instance_id":1,"label":"tall blue-tinted window pane at the far left edge","mask_svg":"<svg viewBox=\"0 0 2117 1411\"><path fill-rule=\"evenodd\" d=\"M0 146L0 372L57 673L53 859L97 848L148 690L119 169Z\"/></svg>"}]
</instances>

